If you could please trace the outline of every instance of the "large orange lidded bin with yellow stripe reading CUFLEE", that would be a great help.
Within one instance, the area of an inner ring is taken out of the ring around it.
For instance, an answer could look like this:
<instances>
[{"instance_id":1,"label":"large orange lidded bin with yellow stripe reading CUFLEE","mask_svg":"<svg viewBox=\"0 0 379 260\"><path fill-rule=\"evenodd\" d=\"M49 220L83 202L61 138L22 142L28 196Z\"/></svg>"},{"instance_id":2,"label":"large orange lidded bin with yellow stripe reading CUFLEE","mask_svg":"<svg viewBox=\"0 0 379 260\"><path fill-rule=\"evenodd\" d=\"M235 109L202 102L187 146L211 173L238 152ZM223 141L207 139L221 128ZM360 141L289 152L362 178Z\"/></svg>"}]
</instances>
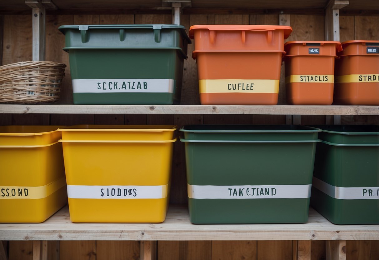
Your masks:
<instances>
[{"instance_id":1,"label":"large orange lidded bin with yellow stripe reading CUFLEE","mask_svg":"<svg viewBox=\"0 0 379 260\"><path fill-rule=\"evenodd\" d=\"M193 25L202 105L276 105L290 26Z\"/></svg>"}]
</instances>

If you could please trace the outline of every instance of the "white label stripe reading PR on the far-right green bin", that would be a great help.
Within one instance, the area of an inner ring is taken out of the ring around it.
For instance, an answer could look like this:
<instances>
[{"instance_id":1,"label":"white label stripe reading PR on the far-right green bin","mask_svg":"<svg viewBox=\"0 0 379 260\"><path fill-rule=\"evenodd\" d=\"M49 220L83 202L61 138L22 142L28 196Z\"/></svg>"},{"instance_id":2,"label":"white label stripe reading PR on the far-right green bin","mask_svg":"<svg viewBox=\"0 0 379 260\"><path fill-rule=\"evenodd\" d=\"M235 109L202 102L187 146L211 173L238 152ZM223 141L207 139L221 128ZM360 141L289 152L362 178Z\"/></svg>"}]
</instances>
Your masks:
<instances>
[{"instance_id":1,"label":"white label stripe reading PR on the far-right green bin","mask_svg":"<svg viewBox=\"0 0 379 260\"><path fill-rule=\"evenodd\" d=\"M338 187L316 177L312 185L334 199L379 199L379 187Z\"/></svg>"}]
</instances>

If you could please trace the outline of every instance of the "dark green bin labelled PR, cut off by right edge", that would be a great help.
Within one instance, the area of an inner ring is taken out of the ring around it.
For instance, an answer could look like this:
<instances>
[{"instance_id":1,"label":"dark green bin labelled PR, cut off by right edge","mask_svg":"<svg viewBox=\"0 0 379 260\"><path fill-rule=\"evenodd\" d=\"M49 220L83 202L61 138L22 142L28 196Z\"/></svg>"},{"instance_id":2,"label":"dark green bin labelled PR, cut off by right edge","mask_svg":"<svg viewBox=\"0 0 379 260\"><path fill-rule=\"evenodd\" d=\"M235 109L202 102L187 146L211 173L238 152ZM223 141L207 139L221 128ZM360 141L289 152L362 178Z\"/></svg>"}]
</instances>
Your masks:
<instances>
[{"instance_id":1,"label":"dark green bin labelled PR, cut off by right edge","mask_svg":"<svg viewBox=\"0 0 379 260\"><path fill-rule=\"evenodd\" d=\"M379 224L379 126L316 127L311 206L334 224Z\"/></svg>"}]
</instances>

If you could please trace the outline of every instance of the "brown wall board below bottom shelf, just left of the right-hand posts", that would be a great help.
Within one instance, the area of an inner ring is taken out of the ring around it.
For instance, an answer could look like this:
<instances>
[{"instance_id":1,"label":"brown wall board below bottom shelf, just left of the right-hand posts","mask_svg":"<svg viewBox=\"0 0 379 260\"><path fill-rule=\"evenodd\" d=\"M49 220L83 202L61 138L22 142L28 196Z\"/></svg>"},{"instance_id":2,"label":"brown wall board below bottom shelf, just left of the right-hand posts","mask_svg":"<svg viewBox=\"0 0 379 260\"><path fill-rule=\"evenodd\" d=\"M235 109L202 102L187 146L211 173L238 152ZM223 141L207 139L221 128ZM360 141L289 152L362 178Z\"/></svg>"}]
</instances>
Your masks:
<instances>
[{"instance_id":1,"label":"brown wall board below bottom shelf, just left of the right-hand posts","mask_svg":"<svg viewBox=\"0 0 379 260\"><path fill-rule=\"evenodd\" d=\"M258 260L292 260L292 241L258 241Z\"/></svg>"}]
</instances>

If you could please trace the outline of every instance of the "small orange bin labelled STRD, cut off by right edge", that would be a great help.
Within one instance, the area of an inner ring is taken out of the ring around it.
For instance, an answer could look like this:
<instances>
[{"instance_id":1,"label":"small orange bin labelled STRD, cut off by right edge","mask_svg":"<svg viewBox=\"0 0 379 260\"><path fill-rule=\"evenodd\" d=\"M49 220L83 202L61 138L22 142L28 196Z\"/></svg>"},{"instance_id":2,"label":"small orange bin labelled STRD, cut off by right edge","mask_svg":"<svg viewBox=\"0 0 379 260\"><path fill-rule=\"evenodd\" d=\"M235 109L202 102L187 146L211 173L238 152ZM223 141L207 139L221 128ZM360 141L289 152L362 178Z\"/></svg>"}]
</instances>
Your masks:
<instances>
[{"instance_id":1,"label":"small orange bin labelled STRD, cut off by right edge","mask_svg":"<svg viewBox=\"0 0 379 260\"><path fill-rule=\"evenodd\" d=\"M379 105L379 41L342 42L335 64L334 103Z\"/></svg>"}]
</instances>

